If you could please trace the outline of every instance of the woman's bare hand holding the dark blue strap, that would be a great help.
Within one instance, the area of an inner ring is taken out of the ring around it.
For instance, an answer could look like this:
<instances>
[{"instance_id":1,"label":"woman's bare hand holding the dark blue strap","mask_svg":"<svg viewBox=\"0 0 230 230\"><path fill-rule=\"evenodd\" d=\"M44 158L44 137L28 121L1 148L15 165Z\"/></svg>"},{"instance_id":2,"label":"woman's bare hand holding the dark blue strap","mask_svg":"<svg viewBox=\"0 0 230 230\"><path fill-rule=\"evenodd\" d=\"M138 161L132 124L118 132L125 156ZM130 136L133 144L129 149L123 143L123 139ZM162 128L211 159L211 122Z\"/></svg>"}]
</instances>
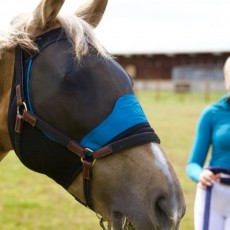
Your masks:
<instances>
[{"instance_id":1,"label":"woman's bare hand holding the dark blue strap","mask_svg":"<svg viewBox=\"0 0 230 230\"><path fill-rule=\"evenodd\" d=\"M214 174L212 171L208 169L204 169L200 174L199 178L199 186L205 189L207 186L211 186L214 182L220 179L220 173Z\"/></svg>"}]
</instances>

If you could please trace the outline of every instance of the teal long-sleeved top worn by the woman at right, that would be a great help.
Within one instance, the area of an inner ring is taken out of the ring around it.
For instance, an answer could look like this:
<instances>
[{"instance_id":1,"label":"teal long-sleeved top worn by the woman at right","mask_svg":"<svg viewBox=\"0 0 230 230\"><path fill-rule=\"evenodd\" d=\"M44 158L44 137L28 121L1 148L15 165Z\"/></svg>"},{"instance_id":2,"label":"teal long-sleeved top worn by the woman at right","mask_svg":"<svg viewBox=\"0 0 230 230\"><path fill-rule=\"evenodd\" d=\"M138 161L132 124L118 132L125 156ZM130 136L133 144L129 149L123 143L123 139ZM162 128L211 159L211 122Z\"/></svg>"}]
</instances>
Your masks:
<instances>
[{"instance_id":1,"label":"teal long-sleeved top worn by the woman at right","mask_svg":"<svg viewBox=\"0 0 230 230\"><path fill-rule=\"evenodd\" d=\"M198 121L194 143L186 167L187 175L198 182L209 148L209 166L230 170L230 104L227 95L207 106Z\"/></svg>"}]
</instances>

